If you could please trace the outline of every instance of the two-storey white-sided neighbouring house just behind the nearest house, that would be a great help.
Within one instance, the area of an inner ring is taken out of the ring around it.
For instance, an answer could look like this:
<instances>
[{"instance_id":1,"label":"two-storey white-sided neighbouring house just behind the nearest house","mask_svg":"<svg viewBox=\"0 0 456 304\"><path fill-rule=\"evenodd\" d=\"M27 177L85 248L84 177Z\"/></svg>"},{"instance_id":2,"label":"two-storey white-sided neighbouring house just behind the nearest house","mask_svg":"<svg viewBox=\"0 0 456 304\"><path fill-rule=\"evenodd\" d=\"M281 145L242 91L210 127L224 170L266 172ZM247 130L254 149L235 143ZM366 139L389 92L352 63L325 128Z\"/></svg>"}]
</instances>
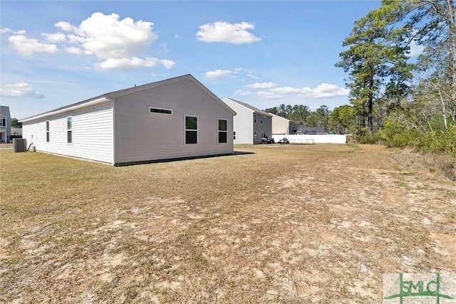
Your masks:
<instances>
[{"instance_id":1,"label":"two-storey white-sided neighbouring house just behind the nearest house","mask_svg":"<svg viewBox=\"0 0 456 304\"><path fill-rule=\"evenodd\" d=\"M261 144L263 137L271 137L271 114L232 98L222 101L237 112L233 122L234 144Z\"/></svg>"}]
</instances>

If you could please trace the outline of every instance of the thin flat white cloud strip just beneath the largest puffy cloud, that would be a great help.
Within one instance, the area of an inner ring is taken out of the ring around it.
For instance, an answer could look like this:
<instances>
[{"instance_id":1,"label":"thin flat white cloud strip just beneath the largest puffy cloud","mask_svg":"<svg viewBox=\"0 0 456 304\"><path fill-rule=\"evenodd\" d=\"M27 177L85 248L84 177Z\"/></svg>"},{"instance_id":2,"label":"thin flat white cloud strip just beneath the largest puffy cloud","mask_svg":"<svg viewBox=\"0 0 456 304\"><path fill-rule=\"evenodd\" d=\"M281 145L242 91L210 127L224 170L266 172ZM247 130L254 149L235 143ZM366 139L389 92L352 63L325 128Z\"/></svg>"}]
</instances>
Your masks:
<instances>
[{"instance_id":1,"label":"thin flat white cloud strip just beneath the largest puffy cloud","mask_svg":"<svg viewBox=\"0 0 456 304\"><path fill-rule=\"evenodd\" d=\"M105 70L130 70L139 67L152 68L158 64L165 66L165 68L172 68L172 65L175 65L175 62L165 59L160 60L152 57L146 57L145 59L138 57L120 59L109 58L101 63L97 63L96 67Z\"/></svg>"}]
</instances>

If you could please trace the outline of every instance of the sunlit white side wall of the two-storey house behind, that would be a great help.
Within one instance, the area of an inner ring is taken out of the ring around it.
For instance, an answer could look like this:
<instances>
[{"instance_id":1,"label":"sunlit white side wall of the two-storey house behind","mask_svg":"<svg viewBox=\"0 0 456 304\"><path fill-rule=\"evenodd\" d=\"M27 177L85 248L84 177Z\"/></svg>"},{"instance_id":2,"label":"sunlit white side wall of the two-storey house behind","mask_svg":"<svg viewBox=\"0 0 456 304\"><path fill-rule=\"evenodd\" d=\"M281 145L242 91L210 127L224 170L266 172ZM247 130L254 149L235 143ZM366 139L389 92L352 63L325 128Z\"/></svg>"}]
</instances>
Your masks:
<instances>
[{"instance_id":1,"label":"sunlit white side wall of the two-storey house behind","mask_svg":"<svg viewBox=\"0 0 456 304\"><path fill-rule=\"evenodd\" d=\"M245 108L243 105L239 105L239 103L235 103L229 98L223 98L222 101L226 103L229 108L232 108L234 112L237 112L237 115L233 117L233 131L236 132L236 139L233 141L234 144L252 145L254 143L253 111ZM261 132L257 137L260 137L259 140L261 141Z\"/></svg>"}]
</instances>

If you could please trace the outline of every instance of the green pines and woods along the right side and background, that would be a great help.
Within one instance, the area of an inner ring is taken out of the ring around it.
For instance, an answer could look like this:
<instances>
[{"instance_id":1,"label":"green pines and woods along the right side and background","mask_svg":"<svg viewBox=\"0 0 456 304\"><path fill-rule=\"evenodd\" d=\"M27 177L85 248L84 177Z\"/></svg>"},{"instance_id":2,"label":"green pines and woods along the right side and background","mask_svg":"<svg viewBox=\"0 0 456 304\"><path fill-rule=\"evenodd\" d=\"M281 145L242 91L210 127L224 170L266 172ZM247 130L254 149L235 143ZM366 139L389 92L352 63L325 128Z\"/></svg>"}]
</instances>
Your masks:
<instances>
[{"instance_id":1,"label":"green pines and woods along the right side and background","mask_svg":"<svg viewBox=\"0 0 456 304\"><path fill-rule=\"evenodd\" d=\"M360 142L456 157L455 13L455 0L382 0L355 21L336 63L348 73L350 105L266 111L352 132ZM423 48L415 60L412 47Z\"/></svg>"}]
</instances>

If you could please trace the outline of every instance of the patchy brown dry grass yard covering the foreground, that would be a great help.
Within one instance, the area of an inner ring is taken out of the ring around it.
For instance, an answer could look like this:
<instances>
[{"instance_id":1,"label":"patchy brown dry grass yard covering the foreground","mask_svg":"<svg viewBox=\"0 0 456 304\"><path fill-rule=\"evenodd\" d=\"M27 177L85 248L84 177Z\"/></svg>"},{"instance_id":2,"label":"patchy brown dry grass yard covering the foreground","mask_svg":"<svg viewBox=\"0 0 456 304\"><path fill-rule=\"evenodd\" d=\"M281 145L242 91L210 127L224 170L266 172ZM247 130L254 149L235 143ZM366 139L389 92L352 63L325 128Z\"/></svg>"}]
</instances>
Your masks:
<instances>
[{"instance_id":1,"label":"patchy brown dry grass yard covering the foreground","mask_svg":"<svg viewBox=\"0 0 456 304\"><path fill-rule=\"evenodd\" d=\"M454 182L364 145L132 167L0 150L0 303L379 303L456 273Z\"/></svg>"}]
</instances>

